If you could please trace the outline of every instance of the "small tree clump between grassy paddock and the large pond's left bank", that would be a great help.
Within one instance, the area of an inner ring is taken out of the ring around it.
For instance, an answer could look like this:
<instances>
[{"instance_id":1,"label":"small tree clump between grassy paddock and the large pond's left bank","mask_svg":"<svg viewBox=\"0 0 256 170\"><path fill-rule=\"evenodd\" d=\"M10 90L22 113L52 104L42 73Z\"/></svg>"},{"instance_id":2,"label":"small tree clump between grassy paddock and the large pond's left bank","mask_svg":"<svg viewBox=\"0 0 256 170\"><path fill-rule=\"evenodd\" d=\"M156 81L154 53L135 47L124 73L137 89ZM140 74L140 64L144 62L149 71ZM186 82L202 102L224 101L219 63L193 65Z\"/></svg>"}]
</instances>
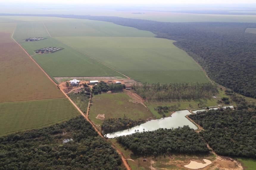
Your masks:
<instances>
[{"instance_id":1,"label":"small tree clump between grassy paddock and the large pond's left bank","mask_svg":"<svg viewBox=\"0 0 256 170\"><path fill-rule=\"evenodd\" d=\"M127 117L118 118L118 119L109 118L102 122L101 129L105 134L107 134L107 133L113 133L113 132L129 129L145 122L146 121L142 119L131 120L131 119L128 119Z\"/></svg>"}]
</instances>

